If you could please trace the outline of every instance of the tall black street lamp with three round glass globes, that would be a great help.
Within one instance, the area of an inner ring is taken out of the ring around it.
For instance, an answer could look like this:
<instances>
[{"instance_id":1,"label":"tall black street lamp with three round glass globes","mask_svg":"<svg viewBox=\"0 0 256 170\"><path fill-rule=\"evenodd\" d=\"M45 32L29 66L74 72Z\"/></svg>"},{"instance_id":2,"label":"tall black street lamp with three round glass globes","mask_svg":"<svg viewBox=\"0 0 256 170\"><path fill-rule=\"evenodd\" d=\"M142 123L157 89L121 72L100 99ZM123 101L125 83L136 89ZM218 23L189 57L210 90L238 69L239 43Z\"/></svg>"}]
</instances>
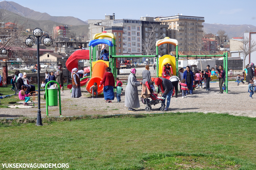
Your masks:
<instances>
[{"instance_id":1,"label":"tall black street lamp with three round glass globes","mask_svg":"<svg viewBox=\"0 0 256 170\"><path fill-rule=\"evenodd\" d=\"M43 39L44 37L44 39ZM32 47L34 44L37 45L37 86L38 86L38 110L37 110L37 126L42 126L42 117L41 117L41 109L40 109L40 59L39 59L39 45L43 44L45 46L52 45L52 38L49 37L48 34L43 35L43 31L39 28L35 28L33 31L33 35L29 35L26 38L26 45Z\"/></svg>"}]
</instances>

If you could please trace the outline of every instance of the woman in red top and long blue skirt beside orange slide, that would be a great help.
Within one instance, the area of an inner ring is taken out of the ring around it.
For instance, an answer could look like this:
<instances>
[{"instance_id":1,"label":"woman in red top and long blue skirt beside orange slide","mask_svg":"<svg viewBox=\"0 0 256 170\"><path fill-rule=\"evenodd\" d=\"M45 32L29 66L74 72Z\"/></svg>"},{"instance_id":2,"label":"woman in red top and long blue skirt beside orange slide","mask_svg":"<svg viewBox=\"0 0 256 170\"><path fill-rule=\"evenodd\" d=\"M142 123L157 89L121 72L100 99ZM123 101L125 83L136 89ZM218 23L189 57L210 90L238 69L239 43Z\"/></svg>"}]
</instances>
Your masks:
<instances>
[{"instance_id":1,"label":"woman in red top and long blue skirt beside orange slide","mask_svg":"<svg viewBox=\"0 0 256 170\"><path fill-rule=\"evenodd\" d=\"M99 84L99 87L103 84L103 94L105 98L105 102L112 103L112 100L114 100L114 85L115 85L115 79L113 73L110 72L110 67L106 68L106 72L103 75L103 79L101 80L101 84Z\"/></svg>"}]
</instances>

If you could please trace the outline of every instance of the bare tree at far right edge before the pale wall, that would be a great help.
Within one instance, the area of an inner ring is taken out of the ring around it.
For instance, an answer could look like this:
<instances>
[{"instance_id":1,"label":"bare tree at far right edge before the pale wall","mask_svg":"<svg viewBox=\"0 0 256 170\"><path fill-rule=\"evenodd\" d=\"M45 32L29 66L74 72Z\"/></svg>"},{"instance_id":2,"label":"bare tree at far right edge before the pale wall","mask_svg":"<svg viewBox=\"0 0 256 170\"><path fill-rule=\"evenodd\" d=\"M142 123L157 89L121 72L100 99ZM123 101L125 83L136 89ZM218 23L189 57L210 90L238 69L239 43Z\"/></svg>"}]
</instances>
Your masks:
<instances>
[{"instance_id":1,"label":"bare tree at far right edge before the pale wall","mask_svg":"<svg viewBox=\"0 0 256 170\"><path fill-rule=\"evenodd\" d=\"M244 53L243 64L245 68L245 58L250 54L256 51L256 42L252 39L250 40L249 37L244 37L242 39L242 44L240 45L240 50Z\"/></svg>"}]
</instances>

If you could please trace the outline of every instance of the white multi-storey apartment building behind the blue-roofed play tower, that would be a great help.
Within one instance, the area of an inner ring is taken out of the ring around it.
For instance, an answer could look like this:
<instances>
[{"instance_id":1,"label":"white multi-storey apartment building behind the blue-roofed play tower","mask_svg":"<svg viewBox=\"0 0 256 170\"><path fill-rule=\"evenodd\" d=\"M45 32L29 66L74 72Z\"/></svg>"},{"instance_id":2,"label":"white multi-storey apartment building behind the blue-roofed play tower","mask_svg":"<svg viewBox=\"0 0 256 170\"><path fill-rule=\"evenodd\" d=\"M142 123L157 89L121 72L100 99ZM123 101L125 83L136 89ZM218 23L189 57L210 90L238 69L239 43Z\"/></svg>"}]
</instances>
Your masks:
<instances>
[{"instance_id":1,"label":"white multi-storey apartment building behind the blue-roofed play tower","mask_svg":"<svg viewBox=\"0 0 256 170\"><path fill-rule=\"evenodd\" d=\"M101 33L102 31L107 31L109 27L122 27L123 33L118 36L118 51L116 53L123 55L140 55L142 54L142 21L138 19L115 19L115 14L106 15L105 19L89 19L88 23L90 40L93 39L93 35L96 33ZM106 29L106 30L105 30ZM113 29L112 29L113 30ZM117 32L116 32L117 33ZM121 43L120 43L121 37ZM107 39L107 38L106 38ZM121 44L121 45L120 45ZM121 47L121 50L120 50ZM117 48L116 48L117 49ZM121 51L121 53L120 53Z\"/></svg>"}]
</instances>

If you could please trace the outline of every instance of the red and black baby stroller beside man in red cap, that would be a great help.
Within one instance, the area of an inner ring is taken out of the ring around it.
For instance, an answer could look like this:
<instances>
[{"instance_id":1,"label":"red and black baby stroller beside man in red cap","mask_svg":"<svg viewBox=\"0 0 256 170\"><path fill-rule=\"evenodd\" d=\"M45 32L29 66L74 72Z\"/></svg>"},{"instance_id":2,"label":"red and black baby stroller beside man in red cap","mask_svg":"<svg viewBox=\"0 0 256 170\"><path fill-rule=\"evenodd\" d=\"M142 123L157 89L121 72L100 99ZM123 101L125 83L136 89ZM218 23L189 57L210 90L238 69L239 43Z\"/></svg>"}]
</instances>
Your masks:
<instances>
[{"instance_id":1,"label":"red and black baby stroller beside man in red cap","mask_svg":"<svg viewBox=\"0 0 256 170\"><path fill-rule=\"evenodd\" d=\"M148 82L146 82L146 86L148 87L148 89L151 89L151 88L150 88L150 85L148 84ZM163 110L165 109L165 103L163 103L163 99L158 99L158 98L155 97L155 95L152 94L152 93L150 94L150 98L152 99L151 101L150 101L150 99L148 99L148 98L141 98L142 103L143 103L144 105L147 105L147 106L145 107L145 110L146 110L147 112L152 109L151 105L154 105L154 106L155 106L155 105L158 104L158 103L161 103L161 104L162 104L161 111L163 111Z\"/></svg>"}]
</instances>

